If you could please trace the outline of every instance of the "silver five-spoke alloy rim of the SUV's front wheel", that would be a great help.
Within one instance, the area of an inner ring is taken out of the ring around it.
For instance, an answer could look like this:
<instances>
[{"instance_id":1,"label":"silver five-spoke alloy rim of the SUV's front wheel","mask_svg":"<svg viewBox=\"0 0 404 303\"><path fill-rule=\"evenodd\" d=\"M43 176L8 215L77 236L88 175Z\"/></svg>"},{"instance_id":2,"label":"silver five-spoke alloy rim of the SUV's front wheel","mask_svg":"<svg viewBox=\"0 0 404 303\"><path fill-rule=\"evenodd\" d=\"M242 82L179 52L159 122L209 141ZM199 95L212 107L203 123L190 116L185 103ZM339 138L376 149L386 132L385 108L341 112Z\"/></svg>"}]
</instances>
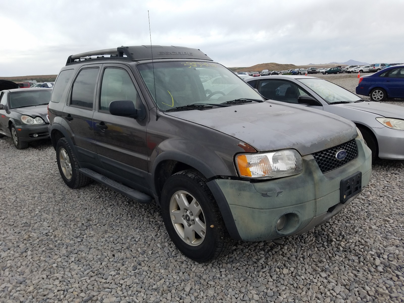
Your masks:
<instances>
[{"instance_id":1,"label":"silver five-spoke alloy rim of the SUV's front wheel","mask_svg":"<svg viewBox=\"0 0 404 303\"><path fill-rule=\"evenodd\" d=\"M177 191L170 200L170 218L179 237L191 246L202 244L206 221L196 198L187 191Z\"/></svg>"}]
</instances>

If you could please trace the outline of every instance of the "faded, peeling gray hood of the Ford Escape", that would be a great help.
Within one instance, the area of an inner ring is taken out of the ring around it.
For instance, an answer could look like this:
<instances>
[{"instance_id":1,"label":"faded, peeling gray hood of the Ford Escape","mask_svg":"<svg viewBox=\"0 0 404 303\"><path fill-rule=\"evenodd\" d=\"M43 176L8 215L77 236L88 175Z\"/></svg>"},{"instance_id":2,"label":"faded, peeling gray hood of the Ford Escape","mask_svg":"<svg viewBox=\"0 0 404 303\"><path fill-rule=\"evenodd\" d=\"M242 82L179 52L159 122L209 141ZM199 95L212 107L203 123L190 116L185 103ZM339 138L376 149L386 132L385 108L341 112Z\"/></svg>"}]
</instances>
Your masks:
<instances>
[{"instance_id":1,"label":"faded, peeling gray hood of the Ford Escape","mask_svg":"<svg viewBox=\"0 0 404 303\"><path fill-rule=\"evenodd\" d=\"M353 122L317 109L277 101L168 112L237 138L257 151L293 148L304 156L357 136Z\"/></svg>"}]
</instances>

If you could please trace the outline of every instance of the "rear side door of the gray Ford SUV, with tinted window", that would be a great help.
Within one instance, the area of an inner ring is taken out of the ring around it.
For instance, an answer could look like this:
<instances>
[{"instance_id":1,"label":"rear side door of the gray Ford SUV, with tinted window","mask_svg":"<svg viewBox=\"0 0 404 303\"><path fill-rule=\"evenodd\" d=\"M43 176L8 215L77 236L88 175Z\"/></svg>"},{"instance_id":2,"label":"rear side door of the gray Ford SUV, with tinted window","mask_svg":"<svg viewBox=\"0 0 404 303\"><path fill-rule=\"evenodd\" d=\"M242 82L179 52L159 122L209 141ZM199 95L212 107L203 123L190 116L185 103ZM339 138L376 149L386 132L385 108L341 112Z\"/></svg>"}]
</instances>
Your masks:
<instances>
[{"instance_id":1,"label":"rear side door of the gray Ford SUV, with tinted window","mask_svg":"<svg viewBox=\"0 0 404 303\"><path fill-rule=\"evenodd\" d=\"M80 162L95 164L97 154L94 139L94 100L101 64L84 65L70 88L67 104L63 107L66 120Z\"/></svg>"}]
</instances>

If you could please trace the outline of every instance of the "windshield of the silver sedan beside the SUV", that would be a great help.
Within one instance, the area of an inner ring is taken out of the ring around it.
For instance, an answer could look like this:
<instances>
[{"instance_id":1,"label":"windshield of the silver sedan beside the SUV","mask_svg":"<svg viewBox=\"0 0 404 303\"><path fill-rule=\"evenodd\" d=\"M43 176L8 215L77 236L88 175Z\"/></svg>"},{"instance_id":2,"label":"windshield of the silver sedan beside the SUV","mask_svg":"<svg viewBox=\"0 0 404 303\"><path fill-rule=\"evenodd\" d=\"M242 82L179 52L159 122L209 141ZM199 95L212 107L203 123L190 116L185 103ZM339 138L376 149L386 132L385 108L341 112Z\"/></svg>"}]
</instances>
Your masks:
<instances>
[{"instance_id":1,"label":"windshield of the silver sedan beside the SUV","mask_svg":"<svg viewBox=\"0 0 404 303\"><path fill-rule=\"evenodd\" d=\"M307 87L311 88L317 95L322 97L325 101L332 104L341 101L359 101L360 97L351 93L349 90L338 86L332 82L323 79L297 79Z\"/></svg>"}]
</instances>

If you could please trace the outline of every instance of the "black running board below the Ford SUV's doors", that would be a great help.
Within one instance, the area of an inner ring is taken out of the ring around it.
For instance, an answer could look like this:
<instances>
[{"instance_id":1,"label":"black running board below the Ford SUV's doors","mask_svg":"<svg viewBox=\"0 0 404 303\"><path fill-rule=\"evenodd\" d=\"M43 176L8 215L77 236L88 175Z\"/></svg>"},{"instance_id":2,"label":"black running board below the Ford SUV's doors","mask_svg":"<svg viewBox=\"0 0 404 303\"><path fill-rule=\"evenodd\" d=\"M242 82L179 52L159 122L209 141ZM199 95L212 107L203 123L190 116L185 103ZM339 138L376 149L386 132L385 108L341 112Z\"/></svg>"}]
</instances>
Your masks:
<instances>
[{"instance_id":1,"label":"black running board below the Ford SUV's doors","mask_svg":"<svg viewBox=\"0 0 404 303\"><path fill-rule=\"evenodd\" d=\"M151 203L151 201L153 201L153 198L151 198L149 195L144 194L136 189L130 188L121 183L118 183L112 179L109 179L108 177L105 177L104 175L101 175L92 169L80 168L79 171L83 175L85 175L91 179L94 179L95 181L97 181L111 189L114 189L114 191L118 191L118 193L120 193L128 198L131 198L139 203Z\"/></svg>"}]
</instances>

